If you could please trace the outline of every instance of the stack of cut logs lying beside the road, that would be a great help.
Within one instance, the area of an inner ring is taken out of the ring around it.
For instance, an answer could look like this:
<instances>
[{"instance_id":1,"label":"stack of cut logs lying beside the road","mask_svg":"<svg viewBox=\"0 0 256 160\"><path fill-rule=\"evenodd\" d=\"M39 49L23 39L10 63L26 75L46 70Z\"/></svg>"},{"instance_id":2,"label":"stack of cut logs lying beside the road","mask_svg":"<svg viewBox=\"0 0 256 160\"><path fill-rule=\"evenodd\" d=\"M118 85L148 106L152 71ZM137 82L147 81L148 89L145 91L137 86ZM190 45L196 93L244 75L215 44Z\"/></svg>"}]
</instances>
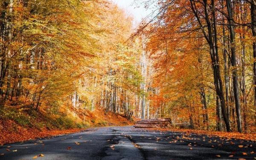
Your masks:
<instances>
[{"instance_id":1,"label":"stack of cut logs lying beside the road","mask_svg":"<svg viewBox=\"0 0 256 160\"><path fill-rule=\"evenodd\" d=\"M135 128L166 128L171 125L170 118L142 119L137 121Z\"/></svg>"}]
</instances>

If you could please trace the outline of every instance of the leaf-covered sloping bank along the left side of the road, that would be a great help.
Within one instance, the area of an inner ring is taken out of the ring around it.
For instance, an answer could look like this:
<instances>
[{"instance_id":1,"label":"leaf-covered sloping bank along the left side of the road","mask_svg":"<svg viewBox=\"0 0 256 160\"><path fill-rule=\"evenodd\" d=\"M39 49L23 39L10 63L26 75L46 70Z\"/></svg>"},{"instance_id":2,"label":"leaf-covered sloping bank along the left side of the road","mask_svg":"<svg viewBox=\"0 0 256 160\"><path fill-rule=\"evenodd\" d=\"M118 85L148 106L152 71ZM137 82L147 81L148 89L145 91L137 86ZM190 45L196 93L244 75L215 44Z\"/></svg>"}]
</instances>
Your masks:
<instances>
[{"instance_id":1,"label":"leaf-covered sloping bank along the left side of the road","mask_svg":"<svg viewBox=\"0 0 256 160\"><path fill-rule=\"evenodd\" d=\"M16 114L18 113L15 113L15 115ZM10 116L12 114L8 112L7 115ZM31 116L31 114L27 115L27 117ZM53 119L42 119L38 117L24 120L24 113L20 113L18 117L10 117L0 117L0 145L61 134L77 133L89 127L125 126L134 124L134 122L127 120L123 116L114 113L105 113L98 108L93 112L87 111L84 117L87 125L84 126L73 125L73 122L70 121L68 121L68 123L71 124L67 125L65 124L67 122L62 119L58 119L57 122ZM44 125L41 126L42 123Z\"/></svg>"}]
</instances>

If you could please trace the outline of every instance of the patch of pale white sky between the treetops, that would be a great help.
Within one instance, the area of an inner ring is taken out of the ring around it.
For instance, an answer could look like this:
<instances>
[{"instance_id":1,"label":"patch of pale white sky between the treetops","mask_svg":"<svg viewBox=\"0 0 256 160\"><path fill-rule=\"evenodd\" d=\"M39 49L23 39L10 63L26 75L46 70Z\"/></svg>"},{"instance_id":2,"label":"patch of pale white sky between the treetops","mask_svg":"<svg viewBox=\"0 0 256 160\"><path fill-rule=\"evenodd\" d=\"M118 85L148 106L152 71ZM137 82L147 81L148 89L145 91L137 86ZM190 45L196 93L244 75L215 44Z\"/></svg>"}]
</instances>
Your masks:
<instances>
[{"instance_id":1,"label":"patch of pale white sky between the treetops","mask_svg":"<svg viewBox=\"0 0 256 160\"><path fill-rule=\"evenodd\" d=\"M140 8L134 5L133 3L134 0L112 0L112 1L115 4L117 4L120 8L124 9L126 14L132 15L132 17L134 17L134 27L136 27L143 18L145 18L147 15L151 13L151 11L145 9L143 5L140 6Z\"/></svg>"}]
</instances>

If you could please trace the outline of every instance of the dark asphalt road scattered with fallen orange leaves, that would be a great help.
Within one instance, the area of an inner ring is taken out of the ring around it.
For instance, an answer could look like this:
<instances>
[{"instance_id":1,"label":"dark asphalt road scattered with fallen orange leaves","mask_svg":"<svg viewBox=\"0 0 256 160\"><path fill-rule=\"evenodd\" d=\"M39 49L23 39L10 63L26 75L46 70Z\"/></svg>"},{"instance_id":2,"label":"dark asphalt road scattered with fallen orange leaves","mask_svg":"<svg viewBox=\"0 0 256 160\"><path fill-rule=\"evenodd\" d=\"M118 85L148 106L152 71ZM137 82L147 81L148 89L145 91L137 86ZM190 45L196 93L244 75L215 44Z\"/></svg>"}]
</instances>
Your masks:
<instances>
[{"instance_id":1,"label":"dark asphalt road scattered with fallen orange leaves","mask_svg":"<svg viewBox=\"0 0 256 160\"><path fill-rule=\"evenodd\" d=\"M255 160L256 142L131 126L104 127L3 145L0 154L0 160Z\"/></svg>"}]
</instances>

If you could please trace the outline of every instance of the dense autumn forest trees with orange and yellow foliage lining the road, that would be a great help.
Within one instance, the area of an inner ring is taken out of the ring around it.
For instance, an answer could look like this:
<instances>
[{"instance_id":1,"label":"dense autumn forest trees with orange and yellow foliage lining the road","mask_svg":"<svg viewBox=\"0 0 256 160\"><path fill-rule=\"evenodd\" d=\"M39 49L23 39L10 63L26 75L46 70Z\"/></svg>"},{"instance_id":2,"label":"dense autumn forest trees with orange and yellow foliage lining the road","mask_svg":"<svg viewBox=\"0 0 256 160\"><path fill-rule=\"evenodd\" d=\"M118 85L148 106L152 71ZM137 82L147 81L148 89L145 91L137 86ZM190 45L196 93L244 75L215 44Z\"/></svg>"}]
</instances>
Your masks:
<instances>
[{"instance_id":1,"label":"dense autumn forest trees with orange and yellow foliage lining the road","mask_svg":"<svg viewBox=\"0 0 256 160\"><path fill-rule=\"evenodd\" d=\"M255 132L256 1L134 3L155 8L135 31L111 1L1 0L1 130L111 115Z\"/></svg>"}]
</instances>

